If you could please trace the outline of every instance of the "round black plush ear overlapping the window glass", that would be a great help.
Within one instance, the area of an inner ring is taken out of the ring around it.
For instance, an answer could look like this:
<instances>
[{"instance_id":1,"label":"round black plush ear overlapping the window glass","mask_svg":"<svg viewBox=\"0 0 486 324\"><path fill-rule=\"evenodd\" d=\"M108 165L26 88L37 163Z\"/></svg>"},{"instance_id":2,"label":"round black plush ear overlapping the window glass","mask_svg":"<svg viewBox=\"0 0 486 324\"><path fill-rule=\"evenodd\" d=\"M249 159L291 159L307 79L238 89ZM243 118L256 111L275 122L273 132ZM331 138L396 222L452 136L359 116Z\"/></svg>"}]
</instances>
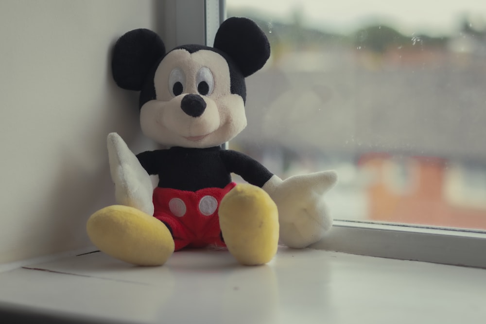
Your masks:
<instances>
[{"instance_id":1,"label":"round black plush ear overlapping the window glass","mask_svg":"<svg viewBox=\"0 0 486 324\"><path fill-rule=\"evenodd\" d=\"M216 33L214 48L228 54L245 78L262 68L270 57L267 36L248 18L226 19Z\"/></svg>"}]
</instances>

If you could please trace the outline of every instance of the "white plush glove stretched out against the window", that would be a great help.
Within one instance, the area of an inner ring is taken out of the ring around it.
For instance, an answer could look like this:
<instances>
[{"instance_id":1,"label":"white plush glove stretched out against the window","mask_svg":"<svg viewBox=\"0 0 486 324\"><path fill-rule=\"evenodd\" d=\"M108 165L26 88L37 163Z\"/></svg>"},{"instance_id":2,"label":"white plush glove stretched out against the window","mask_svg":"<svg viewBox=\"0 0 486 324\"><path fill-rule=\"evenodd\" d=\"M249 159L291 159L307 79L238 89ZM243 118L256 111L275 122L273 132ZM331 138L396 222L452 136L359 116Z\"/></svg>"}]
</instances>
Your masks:
<instances>
[{"instance_id":1,"label":"white plush glove stretched out against the window","mask_svg":"<svg viewBox=\"0 0 486 324\"><path fill-rule=\"evenodd\" d=\"M323 196L336 181L335 171L322 171L285 181L274 175L263 185L278 207L282 243L304 248L322 239L332 225Z\"/></svg>"}]
</instances>

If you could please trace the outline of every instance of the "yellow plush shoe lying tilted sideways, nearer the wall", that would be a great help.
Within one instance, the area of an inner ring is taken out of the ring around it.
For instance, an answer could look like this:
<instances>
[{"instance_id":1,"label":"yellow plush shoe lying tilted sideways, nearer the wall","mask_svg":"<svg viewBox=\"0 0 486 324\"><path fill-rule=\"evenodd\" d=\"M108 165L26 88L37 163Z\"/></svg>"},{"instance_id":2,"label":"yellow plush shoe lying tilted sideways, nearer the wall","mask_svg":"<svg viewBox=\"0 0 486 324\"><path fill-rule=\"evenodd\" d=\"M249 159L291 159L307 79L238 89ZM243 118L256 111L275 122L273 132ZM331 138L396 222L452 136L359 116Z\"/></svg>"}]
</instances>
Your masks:
<instances>
[{"instance_id":1,"label":"yellow plush shoe lying tilted sideways, nearer the wall","mask_svg":"<svg viewBox=\"0 0 486 324\"><path fill-rule=\"evenodd\" d=\"M174 252L167 226L133 207L112 205L98 210L87 222L87 234L104 253L135 265L162 265Z\"/></svg>"}]
</instances>

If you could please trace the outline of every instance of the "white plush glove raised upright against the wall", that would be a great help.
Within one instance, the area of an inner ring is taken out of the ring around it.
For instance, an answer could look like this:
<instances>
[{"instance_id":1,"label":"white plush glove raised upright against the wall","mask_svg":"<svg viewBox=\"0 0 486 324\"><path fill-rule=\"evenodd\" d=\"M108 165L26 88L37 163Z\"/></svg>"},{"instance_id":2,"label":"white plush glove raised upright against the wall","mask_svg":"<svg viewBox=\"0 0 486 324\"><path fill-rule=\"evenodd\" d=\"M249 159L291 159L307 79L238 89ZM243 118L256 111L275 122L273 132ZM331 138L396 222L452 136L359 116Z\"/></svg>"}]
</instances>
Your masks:
<instances>
[{"instance_id":1,"label":"white plush glove raised upright against the wall","mask_svg":"<svg viewBox=\"0 0 486 324\"><path fill-rule=\"evenodd\" d=\"M117 133L108 134L107 146L117 203L153 215L153 186L149 174Z\"/></svg>"}]
</instances>

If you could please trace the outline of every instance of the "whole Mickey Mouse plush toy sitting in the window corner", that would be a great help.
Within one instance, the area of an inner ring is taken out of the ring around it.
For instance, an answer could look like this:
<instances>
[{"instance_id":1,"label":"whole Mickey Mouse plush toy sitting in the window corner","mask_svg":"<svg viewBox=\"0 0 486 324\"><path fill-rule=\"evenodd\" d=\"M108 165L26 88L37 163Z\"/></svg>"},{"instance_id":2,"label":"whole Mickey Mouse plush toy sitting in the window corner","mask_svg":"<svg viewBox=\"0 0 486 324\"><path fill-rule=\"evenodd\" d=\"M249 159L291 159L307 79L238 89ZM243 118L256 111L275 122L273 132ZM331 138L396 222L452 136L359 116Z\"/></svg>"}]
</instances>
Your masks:
<instances>
[{"instance_id":1,"label":"whole Mickey Mouse plush toy sitting in the window corner","mask_svg":"<svg viewBox=\"0 0 486 324\"><path fill-rule=\"evenodd\" d=\"M322 238L331 219L323 194L334 171L282 181L256 160L222 145L246 126L244 78L263 67L270 45L247 18L229 18L214 47L168 53L157 34L121 36L112 59L123 89L140 91L144 135L167 149L134 155L116 133L108 156L120 205L87 222L93 244L136 265L162 265L174 250L220 246L243 265L270 261L278 241L296 248ZM236 185L230 173L248 184ZM158 175L153 189L150 174Z\"/></svg>"}]
</instances>

